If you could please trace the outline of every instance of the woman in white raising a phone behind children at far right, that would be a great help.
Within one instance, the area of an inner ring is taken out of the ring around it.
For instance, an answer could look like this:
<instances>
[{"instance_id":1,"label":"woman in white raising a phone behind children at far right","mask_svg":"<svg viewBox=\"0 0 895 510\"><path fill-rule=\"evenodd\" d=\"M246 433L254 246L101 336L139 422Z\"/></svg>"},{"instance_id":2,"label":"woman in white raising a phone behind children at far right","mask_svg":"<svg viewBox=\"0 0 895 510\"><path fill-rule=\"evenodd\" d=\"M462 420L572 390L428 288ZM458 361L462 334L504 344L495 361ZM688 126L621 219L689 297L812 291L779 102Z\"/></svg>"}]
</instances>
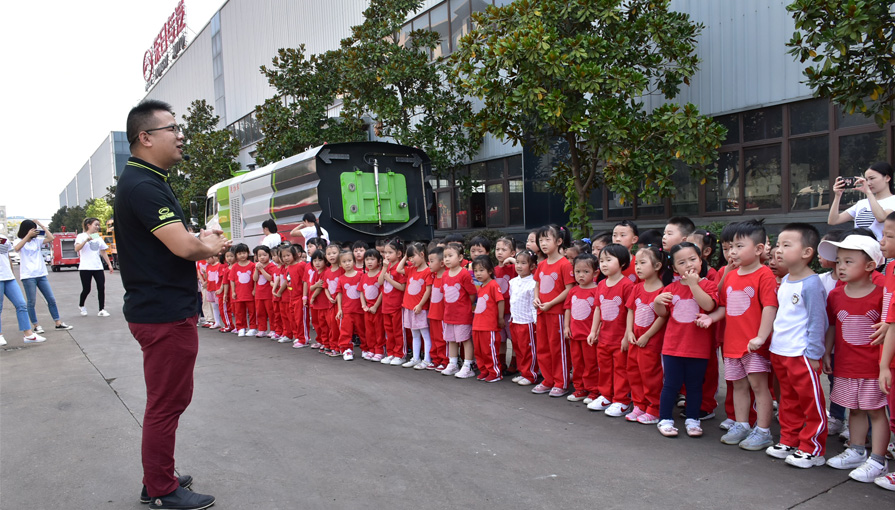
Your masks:
<instances>
[{"instance_id":1,"label":"woman in white raising a phone behind children at far right","mask_svg":"<svg viewBox=\"0 0 895 510\"><path fill-rule=\"evenodd\" d=\"M833 184L833 200L827 223L839 225L854 220L855 228L867 227L877 239L882 238L883 222L889 213L895 211L895 182L892 178L892 165L885 161L870 165L863 177L837 177ZM839 200L846 189L860 191L867 198L839 212Z\"/></svg>"}]
</instances>

